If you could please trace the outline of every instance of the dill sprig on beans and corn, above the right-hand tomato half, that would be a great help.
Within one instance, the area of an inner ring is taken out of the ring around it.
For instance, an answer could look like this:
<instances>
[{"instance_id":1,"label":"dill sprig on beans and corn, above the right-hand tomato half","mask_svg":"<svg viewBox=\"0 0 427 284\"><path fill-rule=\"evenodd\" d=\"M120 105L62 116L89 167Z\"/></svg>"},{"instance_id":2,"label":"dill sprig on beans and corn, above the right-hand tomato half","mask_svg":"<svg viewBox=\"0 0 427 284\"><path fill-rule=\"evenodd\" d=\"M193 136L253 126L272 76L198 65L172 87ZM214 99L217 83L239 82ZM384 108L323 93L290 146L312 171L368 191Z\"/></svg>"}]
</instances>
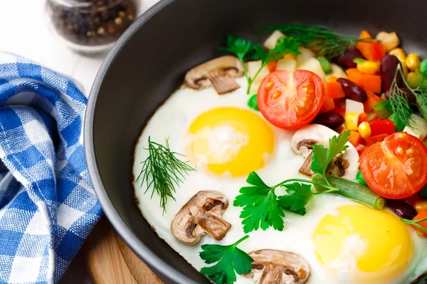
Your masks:
<instances>
[{"instance_id":1,"label":"dill sprig on beans and corn, above the right-hand tomato half","mask_svg":"<svg viewBox=\"0 0 427 284\"><path fill-rule=\"evenodd\" d=\"M389 107L391 112L395 114L395 119L398 121L398 124L404 124L412 129L413 126L411 124L414 122L412 119L413 111L411 109L411 105L408 103L408 95L397 84L398 76L401 76L404 80L404 74L400 64L397 66L394 79L391 82L387 107ZM411 88L408 89L411 92Z\"/></svg>"}]
</instances>

